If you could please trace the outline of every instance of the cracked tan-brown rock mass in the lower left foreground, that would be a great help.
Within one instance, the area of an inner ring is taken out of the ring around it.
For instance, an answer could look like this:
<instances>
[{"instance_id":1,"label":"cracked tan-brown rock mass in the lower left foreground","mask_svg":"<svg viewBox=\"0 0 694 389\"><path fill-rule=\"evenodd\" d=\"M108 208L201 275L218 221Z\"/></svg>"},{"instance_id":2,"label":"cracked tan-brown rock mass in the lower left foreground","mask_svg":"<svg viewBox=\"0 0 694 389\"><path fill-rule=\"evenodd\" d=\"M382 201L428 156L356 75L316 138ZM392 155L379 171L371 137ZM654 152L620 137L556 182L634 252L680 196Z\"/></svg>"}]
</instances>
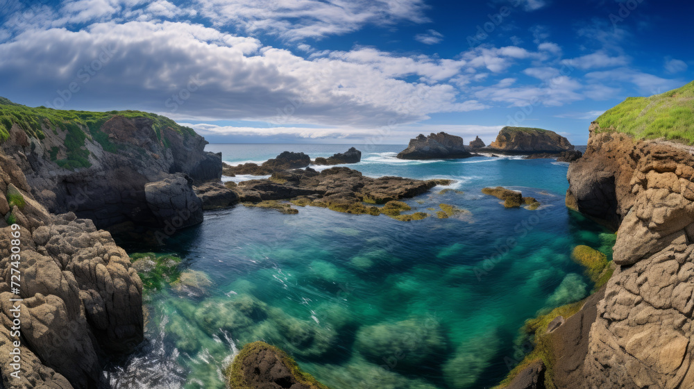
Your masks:
<instances>
[{"instance_id":1,"label":"cracked tan-brown rock mass in the lower left foreground","mask_svg":"<svg viewBox=\"0 0 694 389\"><path fill-rule=\"evenodd\" d=\"M31 195L22 170L2 154L0 213L4 387L96 387L103 356L129 353L143 339L142 281L128 254L90 220L49 213ZM10 257L12 239L21 242L17 267L17 258ZM12 269L21 272L18 295L10 292L10 282L17 281ZM10 301L17 298L22 301ZM10 331L17 308L21 338ZM10 376L15 341L21 343L19 379Z\"/></svg>"}]
</instances>

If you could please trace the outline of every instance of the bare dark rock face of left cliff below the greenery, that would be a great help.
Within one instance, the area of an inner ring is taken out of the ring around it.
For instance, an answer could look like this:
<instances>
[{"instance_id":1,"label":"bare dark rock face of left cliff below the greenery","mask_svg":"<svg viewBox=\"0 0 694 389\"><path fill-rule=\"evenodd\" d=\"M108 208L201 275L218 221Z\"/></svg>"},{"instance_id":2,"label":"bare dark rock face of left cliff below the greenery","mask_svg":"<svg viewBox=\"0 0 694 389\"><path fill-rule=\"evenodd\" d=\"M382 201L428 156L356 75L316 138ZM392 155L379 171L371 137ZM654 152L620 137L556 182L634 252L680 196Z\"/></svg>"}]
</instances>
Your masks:
<instances>
[{"instance_id":1,"label":"bare dark rock face of left cliff below the greenery","mask_svg":"<svg viewBox=\"0 0 694 389\"><path fill-rule=\"evenodd\" d=\"M90 129L80 131L87 134L81 149L88 151L90 167L60 167L56 158L67 155L69 134L46 124L42 140L28 137L15 124L10 140L0 146L22 169L33 197L52 213L72 211L99 228L123 222L157 226L146 201L147 183L179 172L194 183L221 179L221 154L203 151L208 142L192 131L155 131L149 117L115 115L99 128L108 137L108 150L104 140L90 138Z\"/></svg>"}]
</instances>

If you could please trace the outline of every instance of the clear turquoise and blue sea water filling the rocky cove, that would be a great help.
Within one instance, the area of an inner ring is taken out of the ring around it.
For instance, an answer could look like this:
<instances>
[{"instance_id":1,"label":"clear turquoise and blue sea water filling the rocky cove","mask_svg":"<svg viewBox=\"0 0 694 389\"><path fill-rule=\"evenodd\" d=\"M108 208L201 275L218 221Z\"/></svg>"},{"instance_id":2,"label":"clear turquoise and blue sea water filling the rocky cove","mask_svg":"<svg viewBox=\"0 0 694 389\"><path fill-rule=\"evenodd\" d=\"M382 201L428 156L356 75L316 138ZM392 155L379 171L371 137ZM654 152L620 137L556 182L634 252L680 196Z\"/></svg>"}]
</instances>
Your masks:
<instances>
[{"instance_id":1,"label":"clear turquoise and blue sea water filling the rocky cove","mask_svg":"<svg viewBox=\"0 0 694 389\"><path fill-rule=\"evenodd\" d=\"M355 146L369 151L350 167L367 176L457 180L405 200L414 211L435 213L428 208L444 203L469 213L399 222L314 207L297 215L244 206L209 211L203 224L159 249L184 258L183 270L206 274L206 294L147 292L147 341L110 368L110 385L224 388L223 365L247 342L265 340L333 389L489 388L507 374L509 358L518 358L526 319L591 290L570 252L576 245L609 251L611 236L564 206L568 164L401 161L394 156L403 146ZM315 158L348 147L208 150L241 163L285 149ZM543 206L505 209L480 192L496 185ZM445 188L457 192L439 194Z\"/></svg>"}]
</instances>

